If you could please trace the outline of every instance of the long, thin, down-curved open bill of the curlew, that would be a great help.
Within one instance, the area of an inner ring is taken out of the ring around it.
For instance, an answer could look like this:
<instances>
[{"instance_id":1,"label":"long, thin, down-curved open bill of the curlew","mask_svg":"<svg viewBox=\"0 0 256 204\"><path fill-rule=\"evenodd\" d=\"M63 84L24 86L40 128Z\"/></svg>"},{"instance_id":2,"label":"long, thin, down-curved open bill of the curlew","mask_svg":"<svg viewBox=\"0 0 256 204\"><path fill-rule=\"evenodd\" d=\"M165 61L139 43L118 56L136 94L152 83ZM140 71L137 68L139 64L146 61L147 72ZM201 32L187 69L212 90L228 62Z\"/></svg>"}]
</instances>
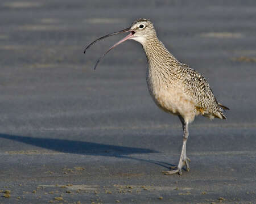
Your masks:
<instances>
[{"instance_id":1,"label":"long, thin, down-curved open bill of the curlew","mask_svg":"<svg viewBox=\"0 0 256 204\"><path fill-rule=\"evenodd\" d=\"M109 52L110 50L112 50L115 46L121 44L122 42L131 39L131 37L133 37L133 35L134 35L135 32L132 31L131 28L126 28L126 29L123 29L122 31L110 33L110 34L108 34L108 35L105 35L105 36L103 36L103 37L100 37L99 39L94 40L94 41L91 42L88 46L86 46L86 48L85 48L85 50L84 50L84 53L85 53L86 50L87 50L88 48L90 48L90 46L92 46L95 42L97 42L97 41L99 41L99 40L102 40L102 39L105 39L106 37L113 36L113 35L117 35L117 34L119 34L119 33L124 33L124 32L130 32L130 34L127 35L126 37L124 37L122 40L118 41L118 42L117 42L116 44L114 44L111 48L109 48L109 49L98 59L98 61L96 62L96 65L94 66L94 70L96 69L96 67L97 67L98 63L101 61L101 59L102 59L106 54L108 54L108 52Z\"/></svg>"}]
</instances>

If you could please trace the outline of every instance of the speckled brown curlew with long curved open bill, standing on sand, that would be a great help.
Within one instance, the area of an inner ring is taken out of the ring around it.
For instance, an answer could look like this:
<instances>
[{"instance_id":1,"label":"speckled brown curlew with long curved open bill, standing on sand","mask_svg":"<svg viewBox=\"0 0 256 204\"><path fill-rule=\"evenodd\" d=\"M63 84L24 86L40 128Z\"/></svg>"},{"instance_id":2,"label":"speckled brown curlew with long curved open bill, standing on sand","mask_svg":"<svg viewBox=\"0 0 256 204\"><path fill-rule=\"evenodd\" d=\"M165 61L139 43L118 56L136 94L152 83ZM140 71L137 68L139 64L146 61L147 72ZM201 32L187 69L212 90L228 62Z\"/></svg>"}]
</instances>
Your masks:
<instances>
[{"instance_id":1,"label":"speckled brown curlew with long curved open bill, standing on sand","mask_svg":"<svg viewBox=\"0 0 256 204\"><path fill-rule=\"evenodd\" d=\"M229 108L217 101L203 75L185 63L181 63L167 50L163 42L158 39L154 24L149 19L137 19L129 28L100 37L86 46L84 53L98 40L125 32L130 33L107 50L98 59L94 69L110 50L124 41L135 40L142 45L147 57L148 91L160 109L179 117L183 128L183 145L179 163L175 167L170 167L170 171L163 171L163 173L182 175L184 166L186 171L190 170L191 160L186 152L189 124L199 115L208 117L210 120L226 119L224 111Z\"/></svg>"}]
</instances>

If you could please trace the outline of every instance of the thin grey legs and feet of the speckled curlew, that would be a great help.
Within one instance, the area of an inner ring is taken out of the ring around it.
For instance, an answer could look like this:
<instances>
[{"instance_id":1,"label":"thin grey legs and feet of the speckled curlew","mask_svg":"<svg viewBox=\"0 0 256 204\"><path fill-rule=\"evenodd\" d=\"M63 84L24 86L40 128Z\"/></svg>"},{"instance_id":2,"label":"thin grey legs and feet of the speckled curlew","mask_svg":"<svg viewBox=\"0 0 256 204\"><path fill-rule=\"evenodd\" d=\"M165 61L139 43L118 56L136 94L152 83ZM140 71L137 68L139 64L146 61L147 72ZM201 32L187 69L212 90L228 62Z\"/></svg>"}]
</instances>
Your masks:
<instances>
[{"instance_id":1,"label":"thin grey legs and feet of the speckled curlew","mask_svg":"<svg viewBox=\"0 0 256 204\"><path fill-rule=\"evenodd\" d=\"M179 116L180 121L182 123L182 128L183 128L183 145L182 145L182 150L180 154L180 160L179 164L177 165L176 169L171 170L171 171L166 171L163 172L166 175L171 175L174 173L179 173L179 175L182 174L181 168L185 165L187 171L190 170L188 162L191 162L191 160L187 157L186 153L186 144L187 144L187 139L188 139L188 123L184 121L183 117Z\"/></svg>"}]
</instances>

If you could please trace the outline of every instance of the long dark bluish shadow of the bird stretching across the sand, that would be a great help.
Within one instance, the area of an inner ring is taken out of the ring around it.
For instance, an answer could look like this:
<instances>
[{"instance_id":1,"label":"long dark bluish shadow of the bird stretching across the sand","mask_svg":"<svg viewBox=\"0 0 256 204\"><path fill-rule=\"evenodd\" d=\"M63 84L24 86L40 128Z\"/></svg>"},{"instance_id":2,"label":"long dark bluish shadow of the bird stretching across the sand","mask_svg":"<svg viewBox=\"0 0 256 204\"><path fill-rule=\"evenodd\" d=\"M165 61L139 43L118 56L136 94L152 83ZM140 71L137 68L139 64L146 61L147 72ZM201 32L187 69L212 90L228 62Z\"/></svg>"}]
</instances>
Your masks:
<instances>
[{"instance_id":1,"label":"long dark bluish shadow of the bird stretching across the sand","mask_svg":"<svg viewBox=\"0 0 256 204\"><path fill-rule=\"evenodd\" d=\"M112 156L117 158L126 158L137 160L140 162L148 162L156 165L160 165L165 168L174 166L173 164L160 162L156 160L141 159L130 156L131 154L149 154L158 153L158 151L150 150L148 148L137 147L125 147L115 145L105 145L94 142L84 141L72 141L68 139L52 139L52 138L34 138L19 135L0 134L0 138L10 139L12 141L18 141L33 145L48 150L64 152L69 154L81 154L81 155L95 155L95 156Z\"/></svg>"}]
</instances>

